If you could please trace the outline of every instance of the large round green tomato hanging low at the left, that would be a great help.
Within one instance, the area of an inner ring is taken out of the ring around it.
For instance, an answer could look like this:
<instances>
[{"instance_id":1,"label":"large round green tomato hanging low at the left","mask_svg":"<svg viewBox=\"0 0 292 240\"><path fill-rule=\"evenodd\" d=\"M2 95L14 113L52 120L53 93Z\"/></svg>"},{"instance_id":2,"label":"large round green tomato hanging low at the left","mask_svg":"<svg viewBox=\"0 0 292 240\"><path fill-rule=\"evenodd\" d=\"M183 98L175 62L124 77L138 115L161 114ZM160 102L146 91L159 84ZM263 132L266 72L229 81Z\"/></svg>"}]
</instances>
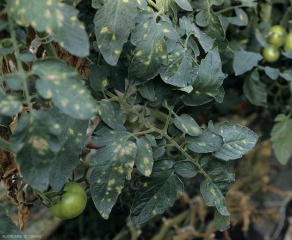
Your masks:
<instances>
[{"instance_id":1,"label":"large round green tomato hanging low at the left","mask_svg":"<svg viewBox=\"0 0 292 240\"><path fill-rule=\"evenodd\" d=\"M87 195L84 188L75 182L67 182L64 194L57 198L57 203L49 208L50 212L62 219L70 219L80 215L87 203Z\"/></svg>"}]
</instances>

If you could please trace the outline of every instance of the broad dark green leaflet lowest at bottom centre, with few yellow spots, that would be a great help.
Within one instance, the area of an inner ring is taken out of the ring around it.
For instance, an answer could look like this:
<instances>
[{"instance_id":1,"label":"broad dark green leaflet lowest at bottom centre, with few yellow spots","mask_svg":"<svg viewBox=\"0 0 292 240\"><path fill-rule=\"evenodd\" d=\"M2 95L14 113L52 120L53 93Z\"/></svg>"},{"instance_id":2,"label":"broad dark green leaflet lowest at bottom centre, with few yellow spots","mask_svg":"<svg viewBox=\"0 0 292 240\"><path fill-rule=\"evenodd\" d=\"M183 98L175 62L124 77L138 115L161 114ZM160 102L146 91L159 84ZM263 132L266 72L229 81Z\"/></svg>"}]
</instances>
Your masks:
<instances>
[{"instance_id":1,"label":"broad dark green leaflet lowest at bottom centre, with few yellow spots","mask_svg":"<svg viewBox=\"0 0 292 240\"><path fill-rule=\"evenodd\" d=\"M131 219L135 224L146 222L172 206L183 193L183 183L173 173L173 162L160 160L155 162L150 177L139 181L139 190L135 194L131 208Z\"/></svg>"}]
</instances>

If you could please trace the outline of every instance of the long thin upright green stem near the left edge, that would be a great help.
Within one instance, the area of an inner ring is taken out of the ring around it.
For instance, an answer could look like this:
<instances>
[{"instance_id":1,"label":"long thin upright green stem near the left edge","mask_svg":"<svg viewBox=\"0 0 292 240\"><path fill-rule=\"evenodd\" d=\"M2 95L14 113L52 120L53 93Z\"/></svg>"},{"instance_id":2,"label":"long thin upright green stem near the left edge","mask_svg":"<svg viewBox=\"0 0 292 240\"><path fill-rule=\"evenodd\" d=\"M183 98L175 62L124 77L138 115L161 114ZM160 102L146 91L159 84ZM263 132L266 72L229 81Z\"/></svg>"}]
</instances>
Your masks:
<instances>
[{"instance_id":1,"label":"long thin upright green stem near the left edge","mask_svg":"<svg viewBox=\"0 0 292 240\"><path fill-rule=\"evenodd\" d=\"M23 88L24 88L26 104L29 107L29 109L32 109L31 98L29 95L28 84L27 84L27 75L26 75L26 72L23 70L22 62L20 61L20 53L19 53L19 48L17 46L16 34L14 31L14 23L13 23L13 20L11 19L10 16L8 16L8 23L9 23L11 40L12 40L12 44L13 44L13 50L14 50L14 54L15 54L18 73L21 76L21 79L23 81Z\"/></svg>"}]
</instances>

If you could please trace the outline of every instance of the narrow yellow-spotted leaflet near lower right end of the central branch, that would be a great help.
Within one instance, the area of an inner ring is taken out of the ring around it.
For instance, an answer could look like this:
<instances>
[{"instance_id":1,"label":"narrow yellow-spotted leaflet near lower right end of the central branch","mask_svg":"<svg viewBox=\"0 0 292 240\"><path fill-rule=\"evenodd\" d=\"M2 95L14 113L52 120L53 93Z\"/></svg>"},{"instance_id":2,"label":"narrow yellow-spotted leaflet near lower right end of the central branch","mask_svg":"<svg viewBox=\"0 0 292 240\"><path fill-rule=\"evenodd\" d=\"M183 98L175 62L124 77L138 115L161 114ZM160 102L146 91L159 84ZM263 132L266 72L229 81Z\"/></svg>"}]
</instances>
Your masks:
<instances>
[{"instance_id":1,"label":"narrow yellow-spotted leaflet near lower right end of the central branch","mask_svg":"<svg viewBox=\"0 0 292 240\"><path fill-rule=\"evenodd\" d=\"M216 184L210 180L205 180L201 183L200 191L208 206L215 206L218 212L223 216L230 215L226 208L225 198Z\"/></svg>"}]
</instances>

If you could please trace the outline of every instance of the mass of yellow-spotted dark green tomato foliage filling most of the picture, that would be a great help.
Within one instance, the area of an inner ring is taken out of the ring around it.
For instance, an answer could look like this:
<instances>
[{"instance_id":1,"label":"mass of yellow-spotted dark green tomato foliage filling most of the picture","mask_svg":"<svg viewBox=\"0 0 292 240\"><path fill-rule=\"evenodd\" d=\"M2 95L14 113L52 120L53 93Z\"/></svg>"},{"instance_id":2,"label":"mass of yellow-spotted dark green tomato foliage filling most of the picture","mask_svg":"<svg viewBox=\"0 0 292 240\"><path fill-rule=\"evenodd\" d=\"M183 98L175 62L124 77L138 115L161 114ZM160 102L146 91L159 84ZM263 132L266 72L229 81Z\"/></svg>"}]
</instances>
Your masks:
<instances>
[{"instance_id":1,"label":"mass of yellow-spotted dark green tomato foliage filling most of the picture","mask_svg":"<svg viewBox=\"0 0 292 240\"><path fill-rule=\"evenodd\" d=\"M254 92L264 88L256 69L260 51L232 50L226 38L228 26L246 26L246 9L257 7L252 0L239 3L1 1L2 64L12 61L15 67L1 76L0 120L8 127L11 122L3 119L13 117L17 124L9 141L0 138L0 147L15 154L23 182L43 192L42 198L48 186L58 192L74 169L84 169L92 200L105 219L125 182L137 182L130 216L139 224L175 203L184 191L183 178L201 174L202 196L216 208L217 227L226 229L225 195L235 179L226 162L250 151L258 136L228 122L202 127L197 117L200 110L222 103L227 77L222 59L230 54L231 74L254 70L244 85L247 98L266 105L266 95ZM90 9L86 28L76 5ZM215 11L229 7L233 16ZM49 35L54 45L40 40L45 54L32 54L28 29ZM88 75L81 77L54 47L89 62ZM291 77L268 66L265 72ZM275 141L278 129L283 131L275 125ZM96 151L85 158L88 141Z\"/></svg>"}]
</instances>

